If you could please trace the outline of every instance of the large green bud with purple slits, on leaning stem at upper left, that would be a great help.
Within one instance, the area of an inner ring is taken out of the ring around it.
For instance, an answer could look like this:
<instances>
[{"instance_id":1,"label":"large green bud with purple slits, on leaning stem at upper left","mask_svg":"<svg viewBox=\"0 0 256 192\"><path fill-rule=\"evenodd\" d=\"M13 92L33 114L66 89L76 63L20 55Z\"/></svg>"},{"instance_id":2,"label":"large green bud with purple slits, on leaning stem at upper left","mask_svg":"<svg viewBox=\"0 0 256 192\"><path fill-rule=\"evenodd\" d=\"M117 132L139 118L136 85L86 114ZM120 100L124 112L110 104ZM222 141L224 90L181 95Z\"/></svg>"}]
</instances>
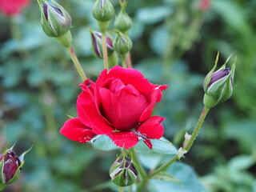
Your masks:
<instances>
[{"instance_id":1,"label":"large green bud with purple slits, on leaning stem at upper left","mask_svg":"<svg viewBox=\"0 0 256 192\"><path fill-rule=\"evenodd\" d=\"M72 27L72 19L70 14L54 0L52 3L46 0L38 0L41 10L42 30L46 35L57 38L63 46L70 46L72 36L70 29Z\"/></svg>"}]
</instances>

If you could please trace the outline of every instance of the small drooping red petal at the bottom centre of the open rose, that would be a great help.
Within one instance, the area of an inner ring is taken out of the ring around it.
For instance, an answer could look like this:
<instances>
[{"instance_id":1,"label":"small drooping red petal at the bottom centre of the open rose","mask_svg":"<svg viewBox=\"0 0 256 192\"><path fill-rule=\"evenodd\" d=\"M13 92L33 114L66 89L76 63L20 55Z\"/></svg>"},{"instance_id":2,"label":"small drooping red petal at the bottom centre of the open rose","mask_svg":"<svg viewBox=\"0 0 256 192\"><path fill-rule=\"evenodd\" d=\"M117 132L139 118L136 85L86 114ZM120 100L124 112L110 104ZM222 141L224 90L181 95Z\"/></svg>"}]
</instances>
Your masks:
<instances>
[{"instance_id":1,"label":"small drooping red petal at the bottom centre of the open rose","mask_svg":"<svg viewBox=\"0 0 256 192\"><path fill-rule=\"evenodd\" d=\"M113 132L109 137L116 146L125 147L126 149L136 146L138 143L138 136L133 132Z\"/></svg>"}]
</instances>

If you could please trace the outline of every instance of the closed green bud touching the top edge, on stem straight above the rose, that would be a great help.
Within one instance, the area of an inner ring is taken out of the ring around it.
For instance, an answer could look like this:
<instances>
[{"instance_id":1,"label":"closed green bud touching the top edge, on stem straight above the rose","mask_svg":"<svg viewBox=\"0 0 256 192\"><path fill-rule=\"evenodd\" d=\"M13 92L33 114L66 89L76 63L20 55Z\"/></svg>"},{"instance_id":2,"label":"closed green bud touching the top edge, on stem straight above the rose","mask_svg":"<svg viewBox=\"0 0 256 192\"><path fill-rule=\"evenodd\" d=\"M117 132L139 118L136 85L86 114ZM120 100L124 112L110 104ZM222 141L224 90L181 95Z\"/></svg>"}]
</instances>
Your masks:
<instances>
[{"instance_id":1,"label":"closed green bud touching the top edge, on stem straight above the rose","mask_svg":"<svg viewBox=\"0 0 256 192\"><path fill-rule=\"evenodd\" d=\"M114 17L114 7L110 0L97 0L93 7L93 16L98 20L98 27L105 32L110 24L110 19Z\"/></svg>"}]
</instances>

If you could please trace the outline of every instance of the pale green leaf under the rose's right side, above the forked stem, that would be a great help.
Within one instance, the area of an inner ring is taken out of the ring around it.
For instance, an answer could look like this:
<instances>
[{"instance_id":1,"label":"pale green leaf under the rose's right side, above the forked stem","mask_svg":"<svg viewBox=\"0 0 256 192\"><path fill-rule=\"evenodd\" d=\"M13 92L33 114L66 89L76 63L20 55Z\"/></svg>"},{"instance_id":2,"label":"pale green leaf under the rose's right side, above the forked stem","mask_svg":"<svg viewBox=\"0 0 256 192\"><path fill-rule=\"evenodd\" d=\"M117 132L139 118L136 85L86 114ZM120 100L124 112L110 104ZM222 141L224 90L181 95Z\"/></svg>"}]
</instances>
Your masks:
<instances>
[{"instance_id":1,"label":"pale green leaf under the rose's right side, above the forked stem","mask_svg":"<svg viewBox=\"0 0 256 192\"><path fill-rule=\"evenodd\" d=\"M151 153L156 153L156 154L177 154L177 149L175 146L170 144L170 142L166 138L161 138L164 141L161 141L159 139L152 139L152 145L153 148L150 150L146 144L142 141L138 142L137 146L134 147L134 149L138 153L142 154L151 154ZM166 142L165 142L166 141ZM169 142L169 143L167 143Z\"/></svg>"}]
</instances>

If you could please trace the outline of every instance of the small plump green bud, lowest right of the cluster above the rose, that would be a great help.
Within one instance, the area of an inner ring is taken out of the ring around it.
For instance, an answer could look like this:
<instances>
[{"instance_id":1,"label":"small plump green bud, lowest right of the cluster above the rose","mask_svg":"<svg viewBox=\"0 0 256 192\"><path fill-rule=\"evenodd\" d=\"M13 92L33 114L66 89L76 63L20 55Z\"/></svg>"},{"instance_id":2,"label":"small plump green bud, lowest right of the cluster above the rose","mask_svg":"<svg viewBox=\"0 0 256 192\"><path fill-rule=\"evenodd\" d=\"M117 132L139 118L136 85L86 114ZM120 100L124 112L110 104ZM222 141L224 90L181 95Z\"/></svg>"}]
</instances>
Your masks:
<instances>
[{"instance_id":1,"label":"small plump green bud, lowest right of the cluster above the rose","mask_svg":"<svg viewBox=\"0 0 256 192\"><path fill-rule=\"evenodd\" d=\"M130 51L133 42L126 34L120 32L117 32L117 34L118 35L114 38L113 46L114 50L118 53L118 56L122 57Z\"/></svg>"}]
</instances>

